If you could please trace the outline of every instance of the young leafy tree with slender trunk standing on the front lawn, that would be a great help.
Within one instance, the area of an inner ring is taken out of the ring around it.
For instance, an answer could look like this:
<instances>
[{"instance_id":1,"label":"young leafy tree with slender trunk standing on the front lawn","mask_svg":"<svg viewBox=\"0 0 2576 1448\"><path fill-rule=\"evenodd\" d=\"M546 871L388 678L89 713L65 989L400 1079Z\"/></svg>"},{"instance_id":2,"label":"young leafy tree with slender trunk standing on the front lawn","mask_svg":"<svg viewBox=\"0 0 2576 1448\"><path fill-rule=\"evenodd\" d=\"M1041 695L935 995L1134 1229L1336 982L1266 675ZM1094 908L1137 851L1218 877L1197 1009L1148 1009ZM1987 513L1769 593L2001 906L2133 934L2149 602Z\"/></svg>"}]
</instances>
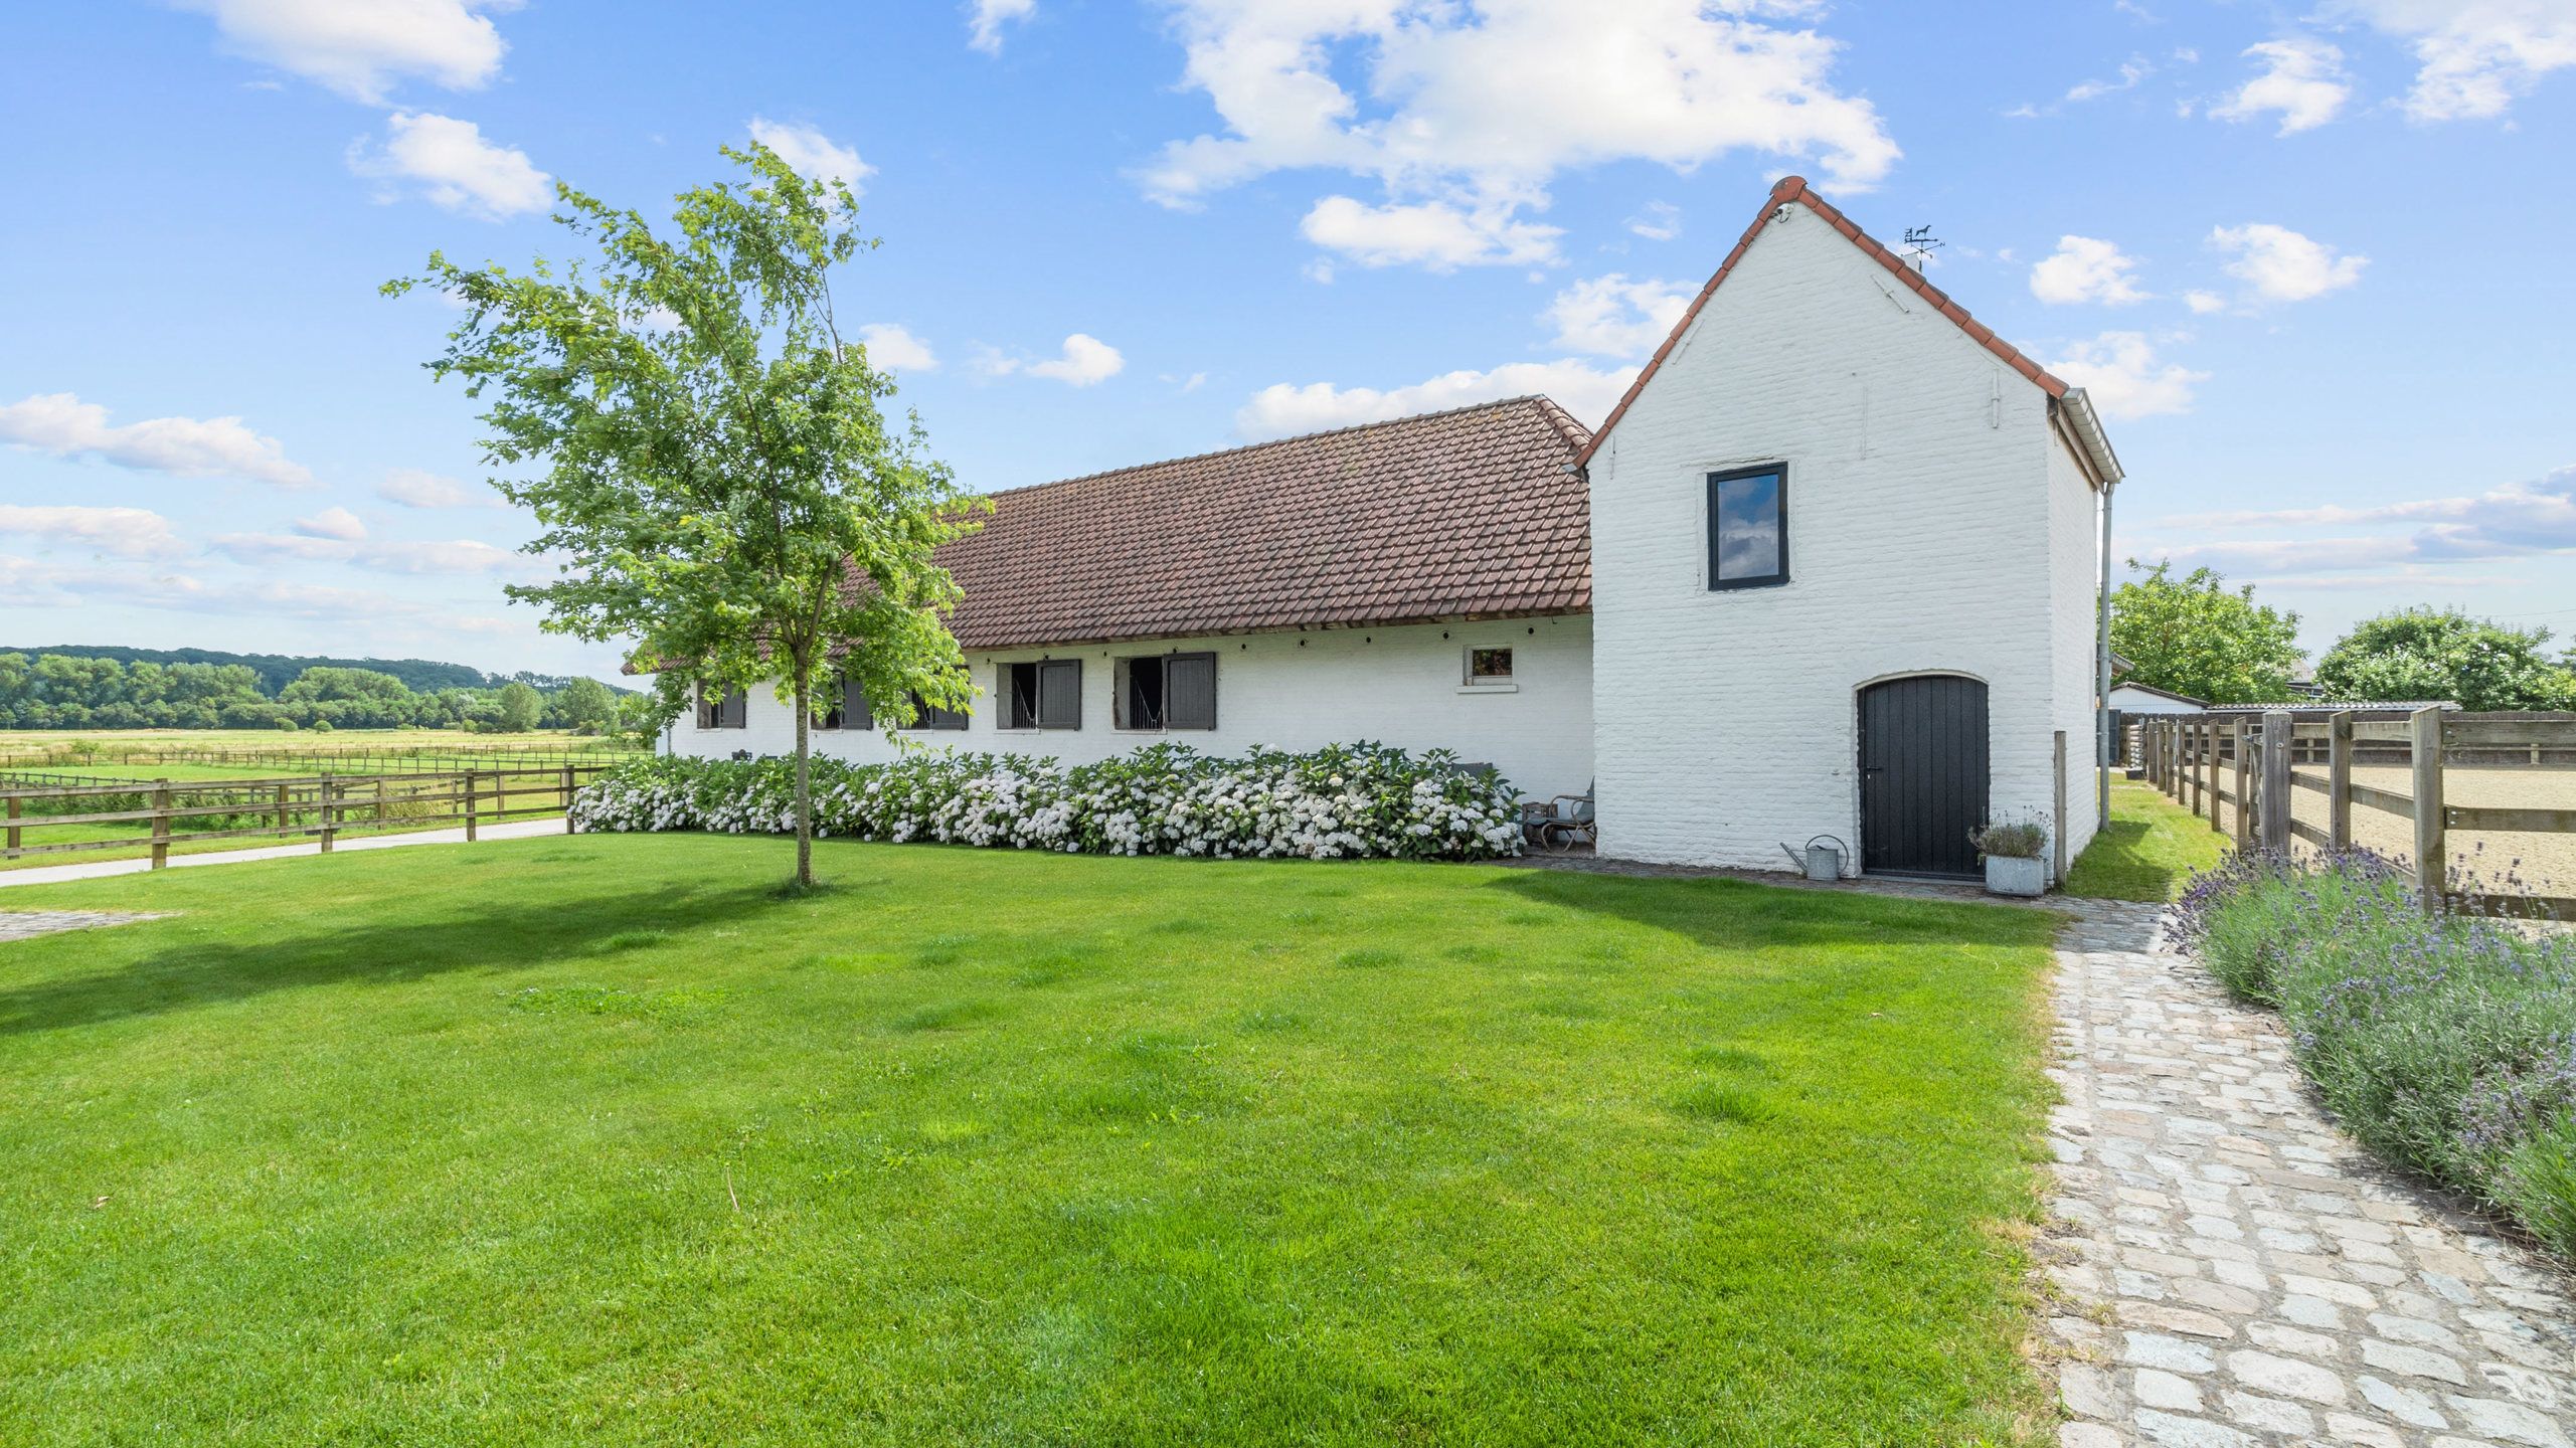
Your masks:
<instances>
[{"instance_id":1,"label":"young leafy tree with slender trunk standing on the front lawn","mask_svg":"<svg viewBox=\"0 0 2576 1448\"><path fill-rule=\"evenodd\" d=\"M848 675L889 721L917 698L971 698L933 549L979 500L927 456L920 417L889 425L894 381L832 319L832 268L876 245L850 188L760 144L724 155L747 175L680 193L670 234L559 183L556 222L598 252L587 265L433 255L386 291L464 307L428 366L492 397L492 466L541 469L492 484L536 510L528 551L564 569L507 593L544 605L549 631L634 639L667 706L693 680L775 680L796 716L796 881L811 884L817 693Z\"/></svg>"}]
</instances>

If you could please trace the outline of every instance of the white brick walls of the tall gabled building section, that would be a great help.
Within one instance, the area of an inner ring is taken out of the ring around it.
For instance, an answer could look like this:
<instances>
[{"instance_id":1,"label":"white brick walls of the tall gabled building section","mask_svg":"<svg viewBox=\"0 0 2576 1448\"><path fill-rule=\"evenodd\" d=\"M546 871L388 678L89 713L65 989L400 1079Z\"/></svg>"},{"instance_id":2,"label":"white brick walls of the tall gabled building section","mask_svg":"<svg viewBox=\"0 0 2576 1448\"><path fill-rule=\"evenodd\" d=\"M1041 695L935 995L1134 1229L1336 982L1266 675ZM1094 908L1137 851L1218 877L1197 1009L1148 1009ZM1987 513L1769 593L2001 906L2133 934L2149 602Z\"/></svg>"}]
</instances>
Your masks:
<instances>
[{"instance_id":1,"label":"white brick walls of the tall gabled building section","mask_svg":"<svg viewBox=\"0 0 2576 1448\"><path fill-rule=\"evenodd\" d=\"M2038 386L1814 211L1765 224L1592 459L1602 850L1857 861L1857 691L1906 672L1986 680L1996 814L2050 812L2069 732L2079 848L2094 546L2050 448ZM1767 461L1790 582L1710 593L1705 474Z\"/></svg>"}]
</instances>

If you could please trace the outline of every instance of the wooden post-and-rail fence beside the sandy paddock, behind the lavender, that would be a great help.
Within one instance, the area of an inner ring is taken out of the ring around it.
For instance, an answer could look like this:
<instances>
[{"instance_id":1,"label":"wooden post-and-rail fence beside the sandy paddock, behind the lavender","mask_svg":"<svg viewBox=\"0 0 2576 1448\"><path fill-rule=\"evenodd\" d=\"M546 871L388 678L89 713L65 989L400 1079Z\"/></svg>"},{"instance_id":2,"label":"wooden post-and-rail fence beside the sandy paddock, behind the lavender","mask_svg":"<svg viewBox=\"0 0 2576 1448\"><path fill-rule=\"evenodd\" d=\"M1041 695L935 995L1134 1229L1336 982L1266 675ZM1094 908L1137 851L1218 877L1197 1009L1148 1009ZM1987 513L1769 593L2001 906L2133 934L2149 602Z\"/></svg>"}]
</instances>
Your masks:
<instances>
[{"instance_id":1,"label":"wooden post-and-rail fence beside the sandy paddock, behind the lavender","mask_svg":"<svg viewBox=\"0 0 2576 1448\"><path fill-rule=\"evenodd\" d=\"M2491 894L2455 889L2447 868L2452 832L2568 835L2576 809L2463 806L2445 801L2445 765L2522 763L2550 765L2576 755L2576 714L2460 714L2419 709L2406 716L2295 721L2269 714L2169 714L2138 724L2138 757L2148 783L2210 830L2231 830L2239 850L2290 853L2300 840L2318 850L2354 845L2352 812L2378 809L2411 827L2409 855L2424 910L2576 920L2576 897ZM2300 765L2324 765L2300 768ZM2352 778L2354 763L2403 765L2403 794ZM2566 770L2561 770L2566 773ZM2576 781L2576 773L2566 778ZM2298 817L2300 794L2324 796L2324 824ZM2571 850L2576 853L2576 850Z\"/></svg>"}]
</instances>

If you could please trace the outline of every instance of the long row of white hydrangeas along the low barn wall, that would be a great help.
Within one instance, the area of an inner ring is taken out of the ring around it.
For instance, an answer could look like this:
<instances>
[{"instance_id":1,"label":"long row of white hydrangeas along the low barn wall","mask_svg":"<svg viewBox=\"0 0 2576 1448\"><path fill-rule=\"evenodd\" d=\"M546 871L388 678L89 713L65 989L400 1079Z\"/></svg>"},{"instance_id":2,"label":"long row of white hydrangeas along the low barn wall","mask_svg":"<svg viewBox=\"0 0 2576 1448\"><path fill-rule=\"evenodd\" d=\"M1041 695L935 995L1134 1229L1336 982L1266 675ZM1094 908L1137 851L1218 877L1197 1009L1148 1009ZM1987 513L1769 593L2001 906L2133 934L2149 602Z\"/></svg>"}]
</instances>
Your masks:
<instances>
[{"instance_id":1,"label":"long row of white hydrangeas along the low barn wall","mask_svg":"<svg viewBox=\"0 0 2576 1448\"><path fill-rule=\"evenodd\" d=\"M636 760L572 801L572 827L796 830L796 763ZM1154 745L1056 760L917 750L889 765L814 760L814 830L1092 855L1489 861L1520 853L1520 804L1448 750L1334 745L1213 757Z\"/></svg>"}]
</instances>

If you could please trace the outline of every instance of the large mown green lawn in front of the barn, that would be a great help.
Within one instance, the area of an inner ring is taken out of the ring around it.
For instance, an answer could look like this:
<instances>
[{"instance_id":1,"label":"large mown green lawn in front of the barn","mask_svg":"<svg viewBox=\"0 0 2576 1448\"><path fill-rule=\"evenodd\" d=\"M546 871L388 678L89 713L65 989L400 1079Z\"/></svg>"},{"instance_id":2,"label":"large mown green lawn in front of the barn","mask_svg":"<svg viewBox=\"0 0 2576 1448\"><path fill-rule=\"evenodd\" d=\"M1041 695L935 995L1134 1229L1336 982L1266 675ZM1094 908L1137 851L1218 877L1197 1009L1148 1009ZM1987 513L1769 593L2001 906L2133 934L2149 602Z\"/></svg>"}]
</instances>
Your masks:
<instances>
[{"instance_id":1,"label":"large mown green lawn in front of the barn","mask_svg":"<svg viewBox=\"0 0 2576 1448\"><path fill-rule=\"evenodd\" d=\"M2007 1443L2053 917L644 835L0 891L10 1443Z\"/></svg>"}]
</instances>

